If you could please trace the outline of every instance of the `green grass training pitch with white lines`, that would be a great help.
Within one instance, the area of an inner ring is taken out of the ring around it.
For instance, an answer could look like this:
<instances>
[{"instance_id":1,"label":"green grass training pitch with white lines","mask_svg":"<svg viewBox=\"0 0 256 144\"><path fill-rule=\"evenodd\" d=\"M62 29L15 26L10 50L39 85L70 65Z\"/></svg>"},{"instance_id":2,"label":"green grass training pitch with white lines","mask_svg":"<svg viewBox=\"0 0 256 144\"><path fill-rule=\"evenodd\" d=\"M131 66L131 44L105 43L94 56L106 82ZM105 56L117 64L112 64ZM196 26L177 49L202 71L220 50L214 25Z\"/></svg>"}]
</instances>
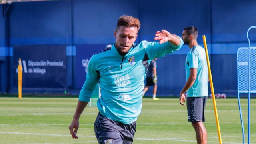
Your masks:
<instances>
[{"instance_id":1,"label":"green grass training pitch with white lines","mask_svg":"<svg viewBox=\"0 0 256 144\"><path fill-rule=\"evenodd\" d=\"M79 139L73 140L68 126L77 98L0 97L0 144L96 144L96 107L87 107L80 117ZM241 144L242 129L237 99L217 99L223 144ZM247 99L241 100L247 135ZM206 106L208 144L218 143L212 100ZM251 143L256 144L256 99L251 99ZM246 137L247 141L247 137ZM153 101L144 98L138 117L134 144L196 144L195 132L187 122L186 106L178 98Z\"/></svg>"}]
</instances>

